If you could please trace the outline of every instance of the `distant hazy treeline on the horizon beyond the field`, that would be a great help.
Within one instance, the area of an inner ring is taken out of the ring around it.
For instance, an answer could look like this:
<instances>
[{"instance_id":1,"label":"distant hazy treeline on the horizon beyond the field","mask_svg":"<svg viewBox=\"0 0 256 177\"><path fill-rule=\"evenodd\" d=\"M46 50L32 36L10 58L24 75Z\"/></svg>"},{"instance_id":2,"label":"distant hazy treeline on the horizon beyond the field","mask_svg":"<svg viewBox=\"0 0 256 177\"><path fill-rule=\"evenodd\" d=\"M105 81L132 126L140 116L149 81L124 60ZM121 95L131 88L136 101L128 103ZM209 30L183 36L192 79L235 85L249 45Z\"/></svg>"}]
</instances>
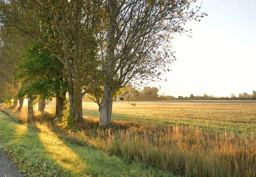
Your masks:
<instances>
[{"instance_id":1,"label":"distant hazy treeline on the horizon beyond the field","mask_svg":"<svg viewBox=\"0 0 256 177\"><path fill-rule=\"evenodd\" d=\"M156 87L144 87L142 91L135 90L131 87L126 87L122 91L122 93L119 96L119 100L124 101L135 101L135 100L141 100L141 101L156 101L156 100L256 100L256 91L252 91L252 94L247 94L246 92L240 93L238 97L236 97L235 94L231 94L230 97L213 97L211 95L198 95L194 96L193 94L190 94L189 97L173 97L170 95L165 95L163 93L162 95L158 94L158 88Z\"/></svg>"}]
</instances>

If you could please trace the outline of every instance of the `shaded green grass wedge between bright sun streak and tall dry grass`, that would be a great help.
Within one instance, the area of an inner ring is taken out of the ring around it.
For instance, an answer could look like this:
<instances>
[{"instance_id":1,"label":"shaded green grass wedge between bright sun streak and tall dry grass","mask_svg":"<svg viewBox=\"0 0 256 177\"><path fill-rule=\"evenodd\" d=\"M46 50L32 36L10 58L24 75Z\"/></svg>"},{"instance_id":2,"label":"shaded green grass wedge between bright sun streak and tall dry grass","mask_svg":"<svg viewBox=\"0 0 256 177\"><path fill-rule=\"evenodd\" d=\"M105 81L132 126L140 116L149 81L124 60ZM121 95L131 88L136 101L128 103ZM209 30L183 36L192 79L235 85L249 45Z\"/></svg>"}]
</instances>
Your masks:
<instances>
[{"instance_id":1,"label":"shaded green grass wedge between bright sun streak and tall dry grass","mask_svg":"<svg viewBox=\"0 0 256 177\"><path fill-rule=\"evenodd\" d=\"M61 139L60 139L61 140ZM107 153L89 146L79 146L62 139L65 148L70 148L84 163L84 171L90 171L93 176L125 177L125 176L162 176L172 177L171 173L164 173L144 163L127 161L125 159L109 156Z\"/></svg>"}]
</instances>

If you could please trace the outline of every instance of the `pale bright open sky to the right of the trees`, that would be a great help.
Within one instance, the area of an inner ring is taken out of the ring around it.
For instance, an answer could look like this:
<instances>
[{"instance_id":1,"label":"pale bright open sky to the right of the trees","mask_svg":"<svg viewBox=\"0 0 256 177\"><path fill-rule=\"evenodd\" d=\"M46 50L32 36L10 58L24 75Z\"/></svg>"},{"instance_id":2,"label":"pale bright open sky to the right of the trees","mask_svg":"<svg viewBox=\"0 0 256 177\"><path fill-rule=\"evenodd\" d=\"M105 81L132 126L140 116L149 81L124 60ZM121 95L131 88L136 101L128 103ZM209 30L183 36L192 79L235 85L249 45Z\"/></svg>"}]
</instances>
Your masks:
<instances>
[{"instance_id":1,"label":"pale bright open sky to the right of the trees","mask_svg":"<svg viewBox=\"0 0 256 177\"><path fill-rule=\"evenodd\" d=\"M202 1L198 0L200 4ZM151 83L166 95L230 97L256 90L256 0L204 0L201 22L190 22L192 38L175 35L172 71Z\"/></svg>"}]
</instances>

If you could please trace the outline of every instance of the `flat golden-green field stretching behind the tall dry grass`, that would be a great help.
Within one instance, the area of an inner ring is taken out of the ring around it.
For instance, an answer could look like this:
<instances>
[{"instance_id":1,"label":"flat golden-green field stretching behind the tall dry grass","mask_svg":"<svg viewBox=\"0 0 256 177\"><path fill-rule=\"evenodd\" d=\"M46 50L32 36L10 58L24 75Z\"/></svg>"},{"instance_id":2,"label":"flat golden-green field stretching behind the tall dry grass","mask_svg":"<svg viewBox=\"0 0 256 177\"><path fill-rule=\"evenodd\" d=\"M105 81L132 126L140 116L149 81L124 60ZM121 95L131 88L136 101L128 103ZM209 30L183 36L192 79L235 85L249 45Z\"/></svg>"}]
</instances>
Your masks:
<instances>
[{"instance_id":1,"label":"flat golden-green field stretching behind the tall dry grass","mask_svg":"<svg viewBox=\"0 0 256 177\"><path fill-rule=\"evenodd\" d=\"M233 131L250 137L256 135L256 103L113 103L113 120L132 121L163 128L173 125L197 126L202 131L221 133ZM83 104L84 116L99 117L96 104Z\"/></svg>"}]
</instances>

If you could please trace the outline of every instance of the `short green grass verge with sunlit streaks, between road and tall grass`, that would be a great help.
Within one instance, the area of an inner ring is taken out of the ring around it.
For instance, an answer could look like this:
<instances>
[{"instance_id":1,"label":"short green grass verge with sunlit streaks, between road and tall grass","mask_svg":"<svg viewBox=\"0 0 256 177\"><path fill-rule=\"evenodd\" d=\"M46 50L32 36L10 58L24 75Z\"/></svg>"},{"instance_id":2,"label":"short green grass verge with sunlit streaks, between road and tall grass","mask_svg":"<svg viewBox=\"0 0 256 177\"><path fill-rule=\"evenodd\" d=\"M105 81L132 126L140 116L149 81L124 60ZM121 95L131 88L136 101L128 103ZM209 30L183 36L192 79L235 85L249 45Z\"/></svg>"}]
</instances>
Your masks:
<instances>
[{"instance_id":1,"label":"short green grass verge with sunlit streaks, between road and tall grass","mask_svg":"<svg viewBox=\"0 0 256 177\"><path fill-rule=\"evenodd\" d=\"M173 176L60 139L46 124L20 124L0 112L0 149L28 176Z\"/></svg>"}]
</instances>

